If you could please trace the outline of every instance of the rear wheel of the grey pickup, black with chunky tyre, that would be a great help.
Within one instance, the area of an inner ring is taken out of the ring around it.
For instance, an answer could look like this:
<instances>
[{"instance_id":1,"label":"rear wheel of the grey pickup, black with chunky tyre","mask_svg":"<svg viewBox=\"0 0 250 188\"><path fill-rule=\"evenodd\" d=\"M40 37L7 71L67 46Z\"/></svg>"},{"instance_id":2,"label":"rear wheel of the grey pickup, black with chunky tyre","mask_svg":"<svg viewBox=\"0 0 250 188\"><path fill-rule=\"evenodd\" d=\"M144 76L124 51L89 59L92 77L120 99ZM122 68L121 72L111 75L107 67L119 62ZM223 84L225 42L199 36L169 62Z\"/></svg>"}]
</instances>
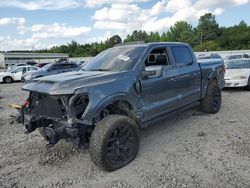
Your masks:
<instances>
[{"instance_id":1,"label":"rear wheel of the grey pickup, black with chunky tyre","mask_svg":"<svg viewBox=\"0 0 250 188\"><path fill-rule=\"evenodd\" d=\"M221 89L218 83L213 81L209 83L207 93L201 100L201 110L206 113L215 114L220 110L221 106Z\"/></svg>"}]
</instances>

